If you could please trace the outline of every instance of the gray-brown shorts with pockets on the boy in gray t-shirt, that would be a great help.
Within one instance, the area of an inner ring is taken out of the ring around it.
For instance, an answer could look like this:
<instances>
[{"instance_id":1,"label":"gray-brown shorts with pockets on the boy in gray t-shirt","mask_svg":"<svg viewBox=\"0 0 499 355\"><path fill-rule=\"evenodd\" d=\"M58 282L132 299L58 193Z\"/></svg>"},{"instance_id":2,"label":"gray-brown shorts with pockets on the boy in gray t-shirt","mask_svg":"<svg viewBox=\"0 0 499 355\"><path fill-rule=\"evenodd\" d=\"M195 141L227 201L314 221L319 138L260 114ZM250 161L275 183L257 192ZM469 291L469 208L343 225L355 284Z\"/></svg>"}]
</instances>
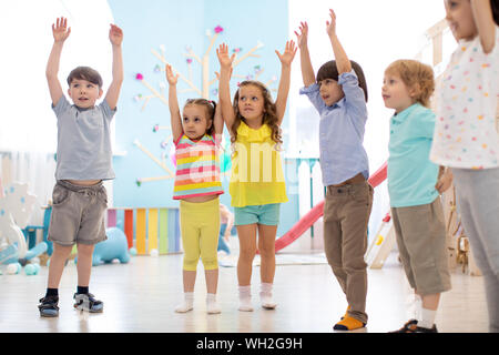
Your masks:
<instances>
[{"instance_id":1,"label":"gray-brown shorts with pockets on the boy in gray t-shirt","mask_svg":"<svg viewBox=\"0 0 499 355\"><path fill-rule=\"evenodd\" d=\"M105 241L108 194L102 182L79 186L59 180L52 192L49 241L63 246Z\"/></svg>"}]
</instances>

